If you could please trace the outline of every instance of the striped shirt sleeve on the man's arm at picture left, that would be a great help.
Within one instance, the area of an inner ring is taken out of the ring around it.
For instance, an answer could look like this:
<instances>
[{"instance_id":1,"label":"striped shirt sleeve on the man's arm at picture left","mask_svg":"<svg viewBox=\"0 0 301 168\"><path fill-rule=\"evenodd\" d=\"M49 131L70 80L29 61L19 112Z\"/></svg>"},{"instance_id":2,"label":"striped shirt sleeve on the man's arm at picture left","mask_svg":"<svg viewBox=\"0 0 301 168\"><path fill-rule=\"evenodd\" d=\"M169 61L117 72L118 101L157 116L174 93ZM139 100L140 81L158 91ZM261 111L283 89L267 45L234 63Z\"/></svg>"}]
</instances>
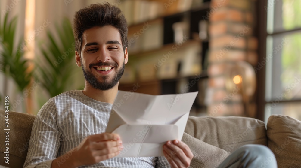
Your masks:
<instances>
[{"instance_id":1,"label":"striped shirt sleeve on the man's arm at picture left","mask_svg":"<svg viewBox=\"0 0 301 168\"><path fill-rule=\"evenodd\" d=\"M41 108L33 122L29 149L23 168L51 167L61 143L57 126L57 109L52 99Z\"/></svg>"}]
</instances>

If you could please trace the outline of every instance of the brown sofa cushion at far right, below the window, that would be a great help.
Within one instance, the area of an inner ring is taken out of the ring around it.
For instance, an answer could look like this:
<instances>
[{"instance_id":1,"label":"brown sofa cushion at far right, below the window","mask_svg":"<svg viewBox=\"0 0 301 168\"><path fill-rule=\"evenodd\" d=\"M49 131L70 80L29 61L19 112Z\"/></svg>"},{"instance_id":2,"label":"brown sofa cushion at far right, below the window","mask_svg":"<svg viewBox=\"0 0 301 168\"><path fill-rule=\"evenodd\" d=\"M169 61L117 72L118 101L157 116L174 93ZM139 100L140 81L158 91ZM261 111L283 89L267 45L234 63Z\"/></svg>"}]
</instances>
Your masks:
<instances>
[{"instance_id":1,"label":"brown sofa cushion at far right, below the window","mask_svg":"<svg viewBox=\"0 0 301 168\"><path fill-rule=\"evenodd\" d=\"M272 115L267 124L268 147L278 167L301 165L301 121L285 115Z\"/></svg>"}]
</instances>

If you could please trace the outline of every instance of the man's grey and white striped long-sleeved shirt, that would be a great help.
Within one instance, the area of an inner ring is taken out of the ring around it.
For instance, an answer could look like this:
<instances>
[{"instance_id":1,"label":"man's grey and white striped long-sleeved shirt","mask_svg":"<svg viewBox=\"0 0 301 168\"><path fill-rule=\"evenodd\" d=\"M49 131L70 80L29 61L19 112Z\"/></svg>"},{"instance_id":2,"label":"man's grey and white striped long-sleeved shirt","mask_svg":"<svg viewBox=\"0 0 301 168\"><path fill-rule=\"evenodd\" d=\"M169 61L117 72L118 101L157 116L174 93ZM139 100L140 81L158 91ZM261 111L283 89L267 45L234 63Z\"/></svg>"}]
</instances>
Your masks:
<instances>
[{"instance_id":1,"label":"man's grey and white striped long-sleeved shirt","mask_svg":"<svg viewBox=\"0 0 301 168\"><path fill-rule=\"evenodd\" d=\"M67 91L49 99L33 123L24 168L51 167L55 158L78 146L85 137L105 132L112 106L110 103L89 98L78 90ZM58 163L64 162L65 160L62 159ZM124 157L110 158L82 167L166 168L170 166L165 157Z\"/></svg>"}]
</instances>

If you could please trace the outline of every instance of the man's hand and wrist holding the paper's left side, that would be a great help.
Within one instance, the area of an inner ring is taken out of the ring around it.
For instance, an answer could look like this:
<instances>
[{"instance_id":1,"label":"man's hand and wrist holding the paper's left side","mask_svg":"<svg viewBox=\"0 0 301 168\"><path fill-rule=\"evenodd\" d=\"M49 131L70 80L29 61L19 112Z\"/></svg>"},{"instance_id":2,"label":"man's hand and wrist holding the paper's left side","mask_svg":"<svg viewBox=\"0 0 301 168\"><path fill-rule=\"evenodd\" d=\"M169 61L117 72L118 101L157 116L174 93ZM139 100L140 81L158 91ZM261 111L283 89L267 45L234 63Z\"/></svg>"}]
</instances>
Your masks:
<instances>
[{"instance_id":1,"label":"man's hand and wrist holding the paper's left side","mask_svg":"<svg viewBox=\"0 0 301 168\"><path fill-rule=\"evenodd\" d=\"M86 137L79 146L72 149L72 154L65 163L61 163L60 156L52 162L51 167L79 167L83 165L96 164L114 156L117 156L123 149L119 135L111 133L101 133ZM70 152L68 152L70 153ZM65 157L66 158L66 157Z\"/></svg>"}]
</instances>

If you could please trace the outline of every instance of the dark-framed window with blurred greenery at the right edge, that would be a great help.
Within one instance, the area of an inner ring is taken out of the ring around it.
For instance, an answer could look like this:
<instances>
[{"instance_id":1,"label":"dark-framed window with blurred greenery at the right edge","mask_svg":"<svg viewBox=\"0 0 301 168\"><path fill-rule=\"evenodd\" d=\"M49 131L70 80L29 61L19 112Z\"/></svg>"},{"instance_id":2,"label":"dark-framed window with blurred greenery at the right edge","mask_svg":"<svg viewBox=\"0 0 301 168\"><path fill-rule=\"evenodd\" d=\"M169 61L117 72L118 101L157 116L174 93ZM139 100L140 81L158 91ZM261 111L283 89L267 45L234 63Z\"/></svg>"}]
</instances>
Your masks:
<instances>
[{"instance_id":1,"label":"dark-framed window with blurred greenery at the right edge","mask_svg":"<svg viewBox=\"0 0 301 168\"><path fill-rule=\"evenodd\" d=\"M301 120L301 1L265 3L266 54L259 61L265 64L264 118L284 114Z\"/></svg>"}]
</instances>

